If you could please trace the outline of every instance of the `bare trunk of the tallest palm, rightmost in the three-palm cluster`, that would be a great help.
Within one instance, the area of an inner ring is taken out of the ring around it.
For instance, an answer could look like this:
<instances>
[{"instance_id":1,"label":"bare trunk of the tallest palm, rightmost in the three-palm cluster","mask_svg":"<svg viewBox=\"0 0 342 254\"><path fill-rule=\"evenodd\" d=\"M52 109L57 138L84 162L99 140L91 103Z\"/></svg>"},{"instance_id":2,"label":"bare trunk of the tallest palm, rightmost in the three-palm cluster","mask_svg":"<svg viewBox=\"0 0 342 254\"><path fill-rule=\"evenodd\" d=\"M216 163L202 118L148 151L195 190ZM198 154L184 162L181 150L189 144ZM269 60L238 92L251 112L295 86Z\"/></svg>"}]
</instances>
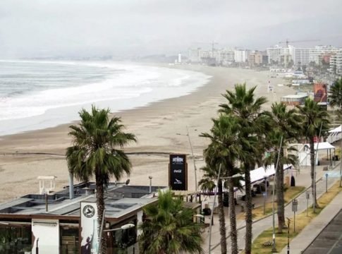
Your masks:
<instances>
[{"instance_id":1,"label":"bare trunk of the tallest palm, rightmost in the three-palm cluster","mask_svg":"<svg viewBox=\"0 0 342 254\"><path fill-rule=\"evenodd\" d=\"M245 254L252 252L252 192L250 184L250 167L245 165L245 193L246 193L246 235L245 235Z\"/></svg>"}]
</instances>

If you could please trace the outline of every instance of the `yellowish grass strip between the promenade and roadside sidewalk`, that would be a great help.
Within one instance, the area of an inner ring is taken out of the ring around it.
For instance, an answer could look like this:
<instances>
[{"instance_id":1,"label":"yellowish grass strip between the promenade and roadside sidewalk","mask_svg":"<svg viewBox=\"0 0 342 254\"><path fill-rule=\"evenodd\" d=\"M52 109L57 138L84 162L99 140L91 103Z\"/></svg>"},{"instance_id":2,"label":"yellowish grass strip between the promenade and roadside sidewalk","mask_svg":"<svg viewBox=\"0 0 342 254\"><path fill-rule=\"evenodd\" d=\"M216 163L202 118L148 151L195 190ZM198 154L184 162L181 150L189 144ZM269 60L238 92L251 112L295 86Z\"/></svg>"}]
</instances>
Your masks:
<instances>
[{"instance_id":1,"label":"yellowish grass strip between the promenade and roadside sidewalk","mask_svg":"<svg viewBox=\"0 0 342 254\"><path fill-rule=\"evenodd\" d=\"M342 188L339 187L339 181L337 181L334 186L331 186L329 188L328 193L324 193L318 200L317 203L319 205L319 208L316 208L316 212L314 213L312 210L312 207L304 212L301 212L300 214L295 216L295 232L293 232L293 218L291 218L291 224L290 224L290 241L297 236L300 231L302 231L307 224L309 224L314 217L317 217L317 215L326 207L326 205L333 200L336 195L342 191ZM277 229L276 229L277 231ZM262 232L255 241L252 243L252 253L271 253L271 246L263 246L263 243L267 241L272 241L272 228L269 228ZM287 229L283 231L283 234L276 234L276 250L279 252L287 245L288 241L288 234Z\"/></svg>"}]
</instances>

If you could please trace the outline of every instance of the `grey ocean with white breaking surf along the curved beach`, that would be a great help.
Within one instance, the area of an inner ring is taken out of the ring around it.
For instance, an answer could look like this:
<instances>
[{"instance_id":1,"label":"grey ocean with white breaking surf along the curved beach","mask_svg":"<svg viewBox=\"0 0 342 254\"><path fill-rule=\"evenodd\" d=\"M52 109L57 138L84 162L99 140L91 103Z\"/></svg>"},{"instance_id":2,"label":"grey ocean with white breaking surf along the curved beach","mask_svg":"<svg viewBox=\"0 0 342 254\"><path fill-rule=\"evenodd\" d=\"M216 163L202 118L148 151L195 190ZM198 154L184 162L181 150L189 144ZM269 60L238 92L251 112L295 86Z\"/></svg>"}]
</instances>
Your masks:
<instances>
[{"instance_id":1,"label":"grey ocean with white breaking surf along the curved beach","mask_svg":"<svg viewBox=\"0 0 342 254\"><path fill-rule=\"evenodd\" d=\"M92 104L118 112L180 97L209 78L110 61L0 61L0 135L70 123Z\"/></svg>"}]
</instances>

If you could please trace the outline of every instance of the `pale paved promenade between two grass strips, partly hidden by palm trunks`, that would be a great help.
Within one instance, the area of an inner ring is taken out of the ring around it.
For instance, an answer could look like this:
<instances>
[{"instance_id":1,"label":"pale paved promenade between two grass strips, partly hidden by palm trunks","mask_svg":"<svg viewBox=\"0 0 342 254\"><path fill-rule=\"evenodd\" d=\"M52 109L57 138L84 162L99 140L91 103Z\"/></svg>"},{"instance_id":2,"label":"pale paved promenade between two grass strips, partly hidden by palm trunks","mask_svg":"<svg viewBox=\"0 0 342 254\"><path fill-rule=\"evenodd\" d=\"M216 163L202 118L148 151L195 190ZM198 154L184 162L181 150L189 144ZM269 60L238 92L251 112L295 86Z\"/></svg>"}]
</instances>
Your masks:
<instances>
[{"instance_id":1,"label":"pale paved promenade between two grass strips, partly hidden by palm trunks","mask_svg":"<svg viewBox=\"0 0 342 254\"><path fill-rule=\"evenodd\" d=\"M322 179L322 176L326 174L326 171L323 171L324 166L318 166L317 167L317 198L319 198L322 193L325 192L326 188L326 181L324 178L324 181L319 181L319 179ZM333 170L330 170L329 172L338 171L339 173L339 164L337 164ZM301 169L300 174L298 176L295 176L296 180L296 186L305 186L310 187L311 186L311 178L310 178L310 167L306 167L304 169ZM329 178L328 179L328 188L332 186L337 181L336 178ZM311 188L308 189L310 191L310 200L309 200L309 206L312 205L312 197L311 197ZM307 208L307 200L305 197L305 193L301 194L297 198L298 200L298 213L303 212ZM228 208L228 207L225 207ZM236 207L236 212L239 212L240 207ZM228 252L231 248L230 238L229 238L229 232L230 232L230 225L229 225L229 217L228 217L228 210L226 210L226 232L227 232L227 249ZM285 216L286 217L292 217L293 212L291 210L291 204L287 205L285 207ZM329 217L331 218L331 217ZM275 217L275 221L277 224L277 217ZM208 220L206 221L208 222ZM269 229L272 225L272 216L269 215L268 217L264 217L263 219L259 219L255 222L253 222L252 226L252 234L253 234L253 241L259 234L261 234L264 230ZM238 227L238 248L239 250L243 250L245 248L245 221L244 220L238 220L237 221L237 227ZM206 230L204 232L204 252L209 252L209 230ZM211 253L212 254L218 254L221 253L221 246L220 246L220 234L219 234L219 217L217 214L214 214L214 225L212 226L212 242L211 242Z\"/></svg>"}]
</instances>

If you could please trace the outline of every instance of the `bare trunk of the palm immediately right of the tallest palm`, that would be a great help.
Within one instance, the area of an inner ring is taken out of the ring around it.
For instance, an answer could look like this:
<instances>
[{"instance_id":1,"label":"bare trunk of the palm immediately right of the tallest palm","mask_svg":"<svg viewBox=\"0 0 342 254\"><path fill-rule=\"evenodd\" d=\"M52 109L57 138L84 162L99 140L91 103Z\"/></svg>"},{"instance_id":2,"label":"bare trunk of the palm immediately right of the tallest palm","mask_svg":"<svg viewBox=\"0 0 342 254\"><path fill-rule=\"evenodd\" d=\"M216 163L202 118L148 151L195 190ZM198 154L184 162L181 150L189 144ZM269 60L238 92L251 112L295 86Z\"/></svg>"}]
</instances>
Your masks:
<instances>
[{"instance_id":1,"label":"bare trunk of the palm immediately right of the tallest palm","mask_svg":"<svg viewBox=\"0 0 342 254\"><path fill-rule=\"evenodd\" d=\"M280 151L279 165L276 172L276 204L278 214L278 233L283 233L283 226L285 225L285 204L283 198L284 184L283 184L283 148Z\"/></svg>"}]
</instances>

